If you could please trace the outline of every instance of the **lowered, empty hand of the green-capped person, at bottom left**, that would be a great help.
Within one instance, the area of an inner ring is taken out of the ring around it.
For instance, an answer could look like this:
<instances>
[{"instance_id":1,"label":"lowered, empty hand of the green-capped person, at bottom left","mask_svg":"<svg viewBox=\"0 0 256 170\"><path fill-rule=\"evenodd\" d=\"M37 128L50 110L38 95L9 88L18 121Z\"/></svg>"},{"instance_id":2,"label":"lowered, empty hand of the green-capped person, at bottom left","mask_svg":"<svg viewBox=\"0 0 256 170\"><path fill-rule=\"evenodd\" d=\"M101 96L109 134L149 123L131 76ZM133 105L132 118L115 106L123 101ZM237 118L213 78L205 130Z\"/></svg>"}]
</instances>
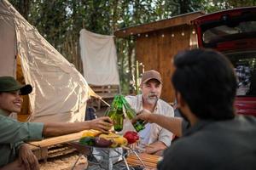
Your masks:
<instances>
[{"instance_id":1,"label":"lowered, empty hand of the green-capped person, at bottom left","mask_svg":"<svg viewBox=\"0 0 256 170\"><path fill-rule=\"evenodd\" d=\"M19 149L19 163L24 165L27 170L38 170L39 163L37 157L32 153L28 144L21 144Z\"/></svg>"}]
</instances>

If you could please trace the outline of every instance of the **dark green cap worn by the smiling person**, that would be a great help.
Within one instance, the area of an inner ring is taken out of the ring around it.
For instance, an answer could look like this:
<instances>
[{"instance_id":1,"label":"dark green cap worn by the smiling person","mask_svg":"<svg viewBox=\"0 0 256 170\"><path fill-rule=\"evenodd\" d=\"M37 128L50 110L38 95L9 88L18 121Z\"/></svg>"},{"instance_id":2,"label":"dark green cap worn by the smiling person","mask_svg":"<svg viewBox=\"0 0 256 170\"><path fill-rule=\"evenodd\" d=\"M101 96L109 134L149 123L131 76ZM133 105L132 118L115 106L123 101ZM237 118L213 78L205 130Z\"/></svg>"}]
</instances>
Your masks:
<instances>
[{"instance_id":1,"label":"dark green cap worn by the smiling person","mask_svg":"<svg viewBox=\"0 0 256 170\"><path fill-rule=\"evenodd\" d=\"M20 95L30 94L32 86L30 84L22 85L14 77L0 77L0 92L14 92L20 90Z\"/></svg>"}]
</instances>

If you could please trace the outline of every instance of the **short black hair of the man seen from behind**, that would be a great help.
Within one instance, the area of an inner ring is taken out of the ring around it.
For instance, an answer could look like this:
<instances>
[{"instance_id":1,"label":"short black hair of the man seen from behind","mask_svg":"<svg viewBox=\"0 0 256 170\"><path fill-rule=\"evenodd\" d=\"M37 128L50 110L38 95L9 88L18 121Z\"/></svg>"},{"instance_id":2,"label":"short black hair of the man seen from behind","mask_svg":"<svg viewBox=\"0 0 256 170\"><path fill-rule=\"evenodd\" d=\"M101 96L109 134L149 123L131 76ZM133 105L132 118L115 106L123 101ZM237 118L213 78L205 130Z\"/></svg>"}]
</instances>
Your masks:
<instances>
[{"instance_id":1,"label":"short black hair of the man seen from behind","mask_svg":"<svg viewBox=\"0 0 256 170\"><path fill-rule=\"evenodd\" d=\"M234 117L236 76L230 61L211 49L192 49L177 54L172 83L190 111L201 119Z\"/></svg>"}]
</instances>

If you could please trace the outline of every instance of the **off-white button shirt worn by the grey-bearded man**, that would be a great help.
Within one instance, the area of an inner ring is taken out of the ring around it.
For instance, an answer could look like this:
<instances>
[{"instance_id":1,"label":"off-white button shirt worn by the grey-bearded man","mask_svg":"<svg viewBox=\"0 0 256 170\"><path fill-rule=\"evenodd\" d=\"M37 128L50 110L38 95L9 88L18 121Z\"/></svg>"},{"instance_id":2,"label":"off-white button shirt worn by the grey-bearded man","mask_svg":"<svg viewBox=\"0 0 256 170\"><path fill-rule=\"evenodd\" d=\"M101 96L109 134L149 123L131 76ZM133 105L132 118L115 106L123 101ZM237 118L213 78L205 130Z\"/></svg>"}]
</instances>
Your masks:
<instances>
[{"instance_id":1,"label":"off-white button shirt worn by the grey-bearded man","mask_svg":"<svg viewBox=\"0 0 256 170\"><path fill-rule=\"evenodd\" d=\"M136 112L143 111L142 94L139 94L137 96L126 96L125 99ZM158 99L153 114L160 114L163 116L174 116L174 111L171 105L167 104L162 99ZM136 131L128 118L124 120L124 127L122 133L125 133L126 131ZM144 133L143 131L147 132ZM164 144L166 144L166 146L170 146L172 141L172 133L155 123L151 123L150 126L147 126L147 128L143 129L139 133L139 135L141 138L143 138L142 141L147 142L147 144L152 144L156 141L161 141Z\"/></svg>"}]
</instances>

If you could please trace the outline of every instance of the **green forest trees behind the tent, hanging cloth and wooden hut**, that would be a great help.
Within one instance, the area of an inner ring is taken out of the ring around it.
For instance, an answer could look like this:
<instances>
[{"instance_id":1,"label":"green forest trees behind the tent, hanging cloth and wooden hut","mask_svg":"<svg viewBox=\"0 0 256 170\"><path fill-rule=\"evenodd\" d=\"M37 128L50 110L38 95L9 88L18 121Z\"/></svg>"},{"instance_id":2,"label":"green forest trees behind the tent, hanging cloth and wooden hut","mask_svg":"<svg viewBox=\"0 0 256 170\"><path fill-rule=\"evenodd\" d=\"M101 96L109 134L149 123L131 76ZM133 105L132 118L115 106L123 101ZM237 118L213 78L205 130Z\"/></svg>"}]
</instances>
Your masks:
<instances>
[{"instance_id":1,"label":"green forest trees behind the tent, hanging cloth and wooden hut","mask_svg":"<svg viewBox=\"0 0 256 170\"><path fill-rule=\"evenodd\" d=\"M255 6L256 0L9 0L68 61L82 73L79 31L104 35L119 29L165 20L195 11ZM136 61L133 37L115 38L123 94L131 93L131 70Z\"/></svg>"}]
</instances>

